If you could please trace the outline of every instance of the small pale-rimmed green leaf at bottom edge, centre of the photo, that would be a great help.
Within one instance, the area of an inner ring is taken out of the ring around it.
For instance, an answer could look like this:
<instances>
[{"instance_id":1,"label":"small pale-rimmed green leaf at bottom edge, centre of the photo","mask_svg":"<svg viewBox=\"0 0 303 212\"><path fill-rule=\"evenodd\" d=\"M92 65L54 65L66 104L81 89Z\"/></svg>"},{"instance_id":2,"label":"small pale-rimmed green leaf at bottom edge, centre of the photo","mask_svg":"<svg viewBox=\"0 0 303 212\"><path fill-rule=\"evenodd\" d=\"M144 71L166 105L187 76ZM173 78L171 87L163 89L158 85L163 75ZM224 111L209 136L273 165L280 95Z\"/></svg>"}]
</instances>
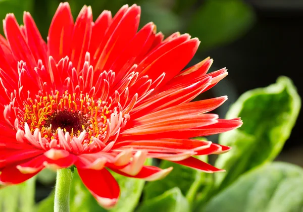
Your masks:
<instances>
[{"instance_id":1,"label":"small pale-rimmed green leaf at bottom edge, centre of the photo","mask_svg":"<svg viewBox=\"0 0 303 212\"><path fill-rule=\"evenodd\" d=\"M144 201L136 212L189 212L189 204L179 188L175 187L153 199Z\"/></svg>"}]
</instances>

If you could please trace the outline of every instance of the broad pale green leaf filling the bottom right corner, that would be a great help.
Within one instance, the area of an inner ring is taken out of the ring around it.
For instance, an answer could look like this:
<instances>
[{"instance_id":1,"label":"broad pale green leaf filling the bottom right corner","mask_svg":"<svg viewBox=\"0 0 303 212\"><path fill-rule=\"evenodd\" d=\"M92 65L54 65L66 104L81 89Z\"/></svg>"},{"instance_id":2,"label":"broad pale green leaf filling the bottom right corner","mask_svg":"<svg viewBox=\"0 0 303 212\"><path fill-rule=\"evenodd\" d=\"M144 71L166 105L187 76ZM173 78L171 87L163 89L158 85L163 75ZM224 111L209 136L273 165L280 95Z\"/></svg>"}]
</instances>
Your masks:
<instances>
[{"instance_id":1,"label":"broad pale green leaf filling the bottom right corner","mask_svg":"<svg viewBox=\"0 0 303 212\"><path fill-rule=\"evenodd\" d=\"M227 187L201 212L303 211L303 169L272 163L252 170Z\"/></svg>"}]
</instances>

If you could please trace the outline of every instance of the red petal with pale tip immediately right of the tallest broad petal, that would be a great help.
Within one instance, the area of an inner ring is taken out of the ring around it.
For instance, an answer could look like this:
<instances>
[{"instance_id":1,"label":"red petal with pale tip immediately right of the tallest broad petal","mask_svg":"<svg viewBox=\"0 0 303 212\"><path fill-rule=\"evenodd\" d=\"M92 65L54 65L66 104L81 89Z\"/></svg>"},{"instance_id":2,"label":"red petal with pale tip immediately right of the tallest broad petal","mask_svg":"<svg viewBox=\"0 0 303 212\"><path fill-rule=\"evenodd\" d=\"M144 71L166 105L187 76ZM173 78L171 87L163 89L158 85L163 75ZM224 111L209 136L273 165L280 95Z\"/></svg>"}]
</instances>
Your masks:
<instances>
[{"instance_id":1,"label":"red petal with pale tip immediately right of the tallest broad petal","mask_svg":"<svg viewBox=\"0 0 303 212\"><path fill-rule=\"evenodd\" d=\"M88 51L92 31L91 7L84 6L75 22L72 44L71 61L78 72L83 67L86 51Z\"/></svg>"}]
</instances>

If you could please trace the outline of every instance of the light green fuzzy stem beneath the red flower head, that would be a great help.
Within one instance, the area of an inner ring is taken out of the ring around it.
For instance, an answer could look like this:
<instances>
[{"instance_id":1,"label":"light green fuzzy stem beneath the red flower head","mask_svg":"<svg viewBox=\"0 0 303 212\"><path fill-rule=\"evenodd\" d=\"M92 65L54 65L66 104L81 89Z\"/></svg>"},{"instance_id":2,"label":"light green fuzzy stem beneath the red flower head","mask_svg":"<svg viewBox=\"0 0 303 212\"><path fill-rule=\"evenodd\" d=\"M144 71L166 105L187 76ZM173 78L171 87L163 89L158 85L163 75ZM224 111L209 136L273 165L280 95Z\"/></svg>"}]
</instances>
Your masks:
<instances>
[{"instance_id":1,"label":"light green fuzzy stem beneath the red flower head","mask_svg":"<svg viewBox=\"0 0 303 212\"><path fill-rule=\"evenodd\" d=\"M69 212L69 193L73 174L70 169L59 169L55 188L54 212Z\"/></svg>"}]
</instances>

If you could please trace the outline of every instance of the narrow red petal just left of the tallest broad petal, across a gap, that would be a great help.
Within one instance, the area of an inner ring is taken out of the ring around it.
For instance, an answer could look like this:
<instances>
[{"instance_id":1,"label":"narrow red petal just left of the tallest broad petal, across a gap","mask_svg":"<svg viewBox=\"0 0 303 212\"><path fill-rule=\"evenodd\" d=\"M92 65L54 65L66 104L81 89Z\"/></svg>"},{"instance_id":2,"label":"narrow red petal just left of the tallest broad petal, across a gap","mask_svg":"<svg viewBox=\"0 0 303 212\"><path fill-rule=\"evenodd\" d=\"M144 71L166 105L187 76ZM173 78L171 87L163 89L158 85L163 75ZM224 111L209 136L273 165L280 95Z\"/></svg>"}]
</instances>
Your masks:
<instances>
[{"instance_id":1,"label":"narrow red petal just left of the tallest broad petal, across a gap","mask_svg":"<svg viewBox=\"0 0 303 212\"><path fill-rule=\"evenodd\" d=\"M27 35L27 43L35 61L42 60L43 65L47 66L47 45L28 12L24 12L23 14L23 23Z\"/></svg>"}]
</instances>

